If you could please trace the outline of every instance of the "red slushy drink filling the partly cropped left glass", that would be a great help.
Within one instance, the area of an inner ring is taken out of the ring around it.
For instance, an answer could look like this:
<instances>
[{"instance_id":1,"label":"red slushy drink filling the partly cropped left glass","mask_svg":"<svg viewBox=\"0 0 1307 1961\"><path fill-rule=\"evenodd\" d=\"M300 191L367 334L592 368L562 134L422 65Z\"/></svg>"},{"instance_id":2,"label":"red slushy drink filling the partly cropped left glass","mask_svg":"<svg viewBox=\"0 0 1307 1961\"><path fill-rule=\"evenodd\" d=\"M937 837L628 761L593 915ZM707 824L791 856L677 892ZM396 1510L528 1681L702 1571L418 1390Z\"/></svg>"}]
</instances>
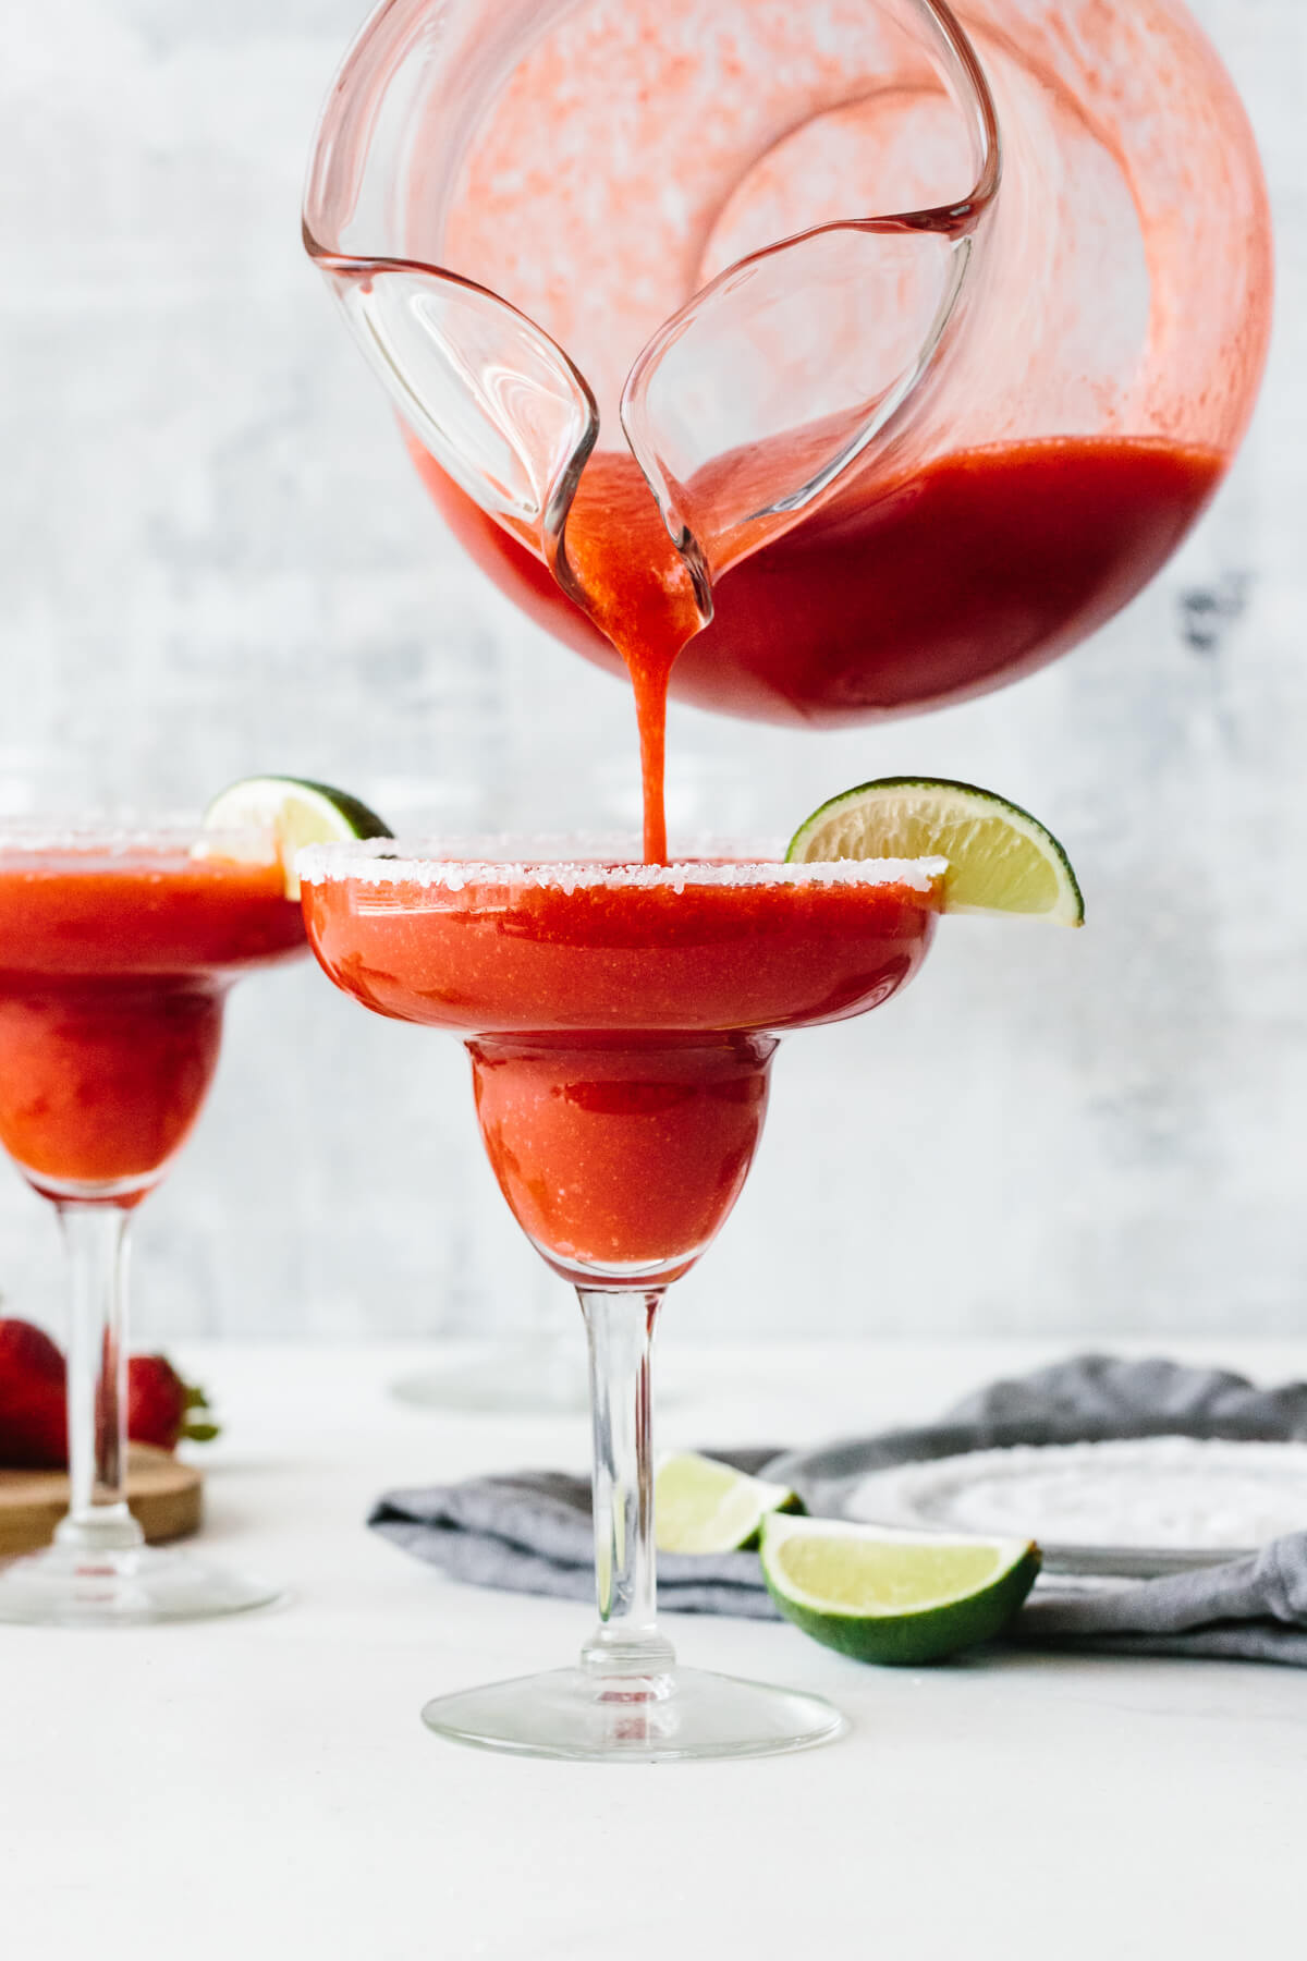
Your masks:
<instances>
[{"instance_id":1,"label":"red slushy drink filling the partly cropped left glass","mask_svg":"<svg viewBox=\"0 0 1307 1961\"><path fill-rule=\"evenodd\" d=\"M304 947L274 865L0 851L0 1141L29 1181L133 1186L190 1131L227 986Z\"/></svg>"}]
</instances>

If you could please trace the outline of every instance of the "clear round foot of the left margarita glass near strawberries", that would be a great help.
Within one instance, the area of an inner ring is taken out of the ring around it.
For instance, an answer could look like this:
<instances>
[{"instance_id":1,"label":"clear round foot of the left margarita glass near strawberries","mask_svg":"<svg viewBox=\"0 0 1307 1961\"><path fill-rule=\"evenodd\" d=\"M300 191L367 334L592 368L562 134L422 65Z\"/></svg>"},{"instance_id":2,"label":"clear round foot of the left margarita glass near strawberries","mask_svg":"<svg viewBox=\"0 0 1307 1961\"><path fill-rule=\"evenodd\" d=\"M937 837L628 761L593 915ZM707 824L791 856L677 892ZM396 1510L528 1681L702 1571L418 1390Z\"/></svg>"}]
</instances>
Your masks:
<instances>
[{"instance_id":1,"label":"clear round foot of the left margarita glass near strawberries","mask_svg":"<svg viewBox=\"0 0 1307 1961\"><path fill-rule=\"evenodd\" d=\"M282 1588L170 1547L86 1551L51 1545L0 1569L0 1622L33 1628L139 1628L272 1606Z\"/></svg>"}]
</instances>

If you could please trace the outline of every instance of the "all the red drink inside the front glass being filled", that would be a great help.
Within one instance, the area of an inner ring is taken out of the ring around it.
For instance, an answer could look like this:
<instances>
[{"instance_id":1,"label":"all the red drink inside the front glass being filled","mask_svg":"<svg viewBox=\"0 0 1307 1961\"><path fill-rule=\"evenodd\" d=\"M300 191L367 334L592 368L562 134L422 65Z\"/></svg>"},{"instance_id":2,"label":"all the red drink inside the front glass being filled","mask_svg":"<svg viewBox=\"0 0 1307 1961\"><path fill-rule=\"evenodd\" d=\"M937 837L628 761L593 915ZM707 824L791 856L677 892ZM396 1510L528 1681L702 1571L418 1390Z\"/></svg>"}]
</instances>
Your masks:
<instances>
[{"instance_id":1,"label":"all the red drink inside the front glass being filled","mask_svg":"<svg viewBox=\"0 0 1307 1961\"><path fill-rule=\"evenodd\" d=\"M899 884L304 884L327 975L455 1030L500 1188L568 1279L676 1279L741 1192L774 1033L917 971L933 892Z\"/></svg>"}]
</instances>

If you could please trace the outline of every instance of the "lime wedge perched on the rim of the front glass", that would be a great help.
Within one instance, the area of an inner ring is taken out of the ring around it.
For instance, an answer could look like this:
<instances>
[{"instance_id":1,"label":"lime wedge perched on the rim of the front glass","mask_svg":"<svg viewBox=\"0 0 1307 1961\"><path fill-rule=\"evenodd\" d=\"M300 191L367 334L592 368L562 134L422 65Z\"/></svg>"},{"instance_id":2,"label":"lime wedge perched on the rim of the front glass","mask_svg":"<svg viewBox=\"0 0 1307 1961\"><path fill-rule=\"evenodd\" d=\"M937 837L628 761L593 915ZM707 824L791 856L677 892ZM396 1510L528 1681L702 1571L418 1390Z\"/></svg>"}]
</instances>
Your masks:
<instances>
[{"instance_id":1,"label":"lime wedge perched on the rim of the front glass","mask_svg":"<svg viewBox=\"0 0 1307 1961\"><path fill-rule=\"evenodd\" d=\"M946 912L1023 912L1084 926L1066 851L1044 826L993 790L929 777L882 777L833 796L798 828L786 859L943 857Z\"/></svg>"}]
</instances>

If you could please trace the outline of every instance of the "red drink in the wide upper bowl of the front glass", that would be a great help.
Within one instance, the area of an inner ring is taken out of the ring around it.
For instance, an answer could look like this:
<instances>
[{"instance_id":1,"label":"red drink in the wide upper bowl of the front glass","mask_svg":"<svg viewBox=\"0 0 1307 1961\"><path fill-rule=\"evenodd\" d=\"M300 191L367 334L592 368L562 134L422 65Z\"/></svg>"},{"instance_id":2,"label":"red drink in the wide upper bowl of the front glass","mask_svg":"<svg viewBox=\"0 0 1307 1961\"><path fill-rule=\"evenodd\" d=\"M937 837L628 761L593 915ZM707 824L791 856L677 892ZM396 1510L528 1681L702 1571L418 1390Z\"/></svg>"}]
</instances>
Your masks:
<instances>
[{"instance_id":1,"label":"red drink in the wide upper bowl of the front glass","mask_svg":"<svg viewBox=\"0 0 1307 1961\"><path fill-rule=\"evenodd\" d=\"M492 869L459 890L402 875L304 886L317 959L378 1014L464 1035L651 1043L864 1014L921 965L937 904L870 880L566 890Z\"/></svg>"}]
</instances>

